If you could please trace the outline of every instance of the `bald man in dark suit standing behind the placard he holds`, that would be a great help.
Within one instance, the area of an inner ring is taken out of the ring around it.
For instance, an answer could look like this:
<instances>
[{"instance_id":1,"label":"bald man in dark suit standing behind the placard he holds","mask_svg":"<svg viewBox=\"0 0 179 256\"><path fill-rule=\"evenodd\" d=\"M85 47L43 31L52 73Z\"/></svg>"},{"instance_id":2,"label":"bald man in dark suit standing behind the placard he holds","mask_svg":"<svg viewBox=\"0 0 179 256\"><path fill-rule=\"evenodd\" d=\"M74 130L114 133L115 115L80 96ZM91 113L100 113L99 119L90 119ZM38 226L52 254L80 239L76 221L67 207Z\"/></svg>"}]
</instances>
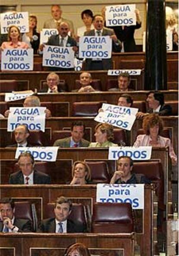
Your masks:
<instances>
[{"instance_id":1,"label":"bald man in dark suit standing behind the placard he holds","mask_svg":"<svg viewBox=\"0 0 179 256\"><path fill-rule=\"evenodd\" d=\"M58 35L53 35L48 39L47 45L61 46L61 47L73 47L74 52L77 52L76 41L68 36L70 31L69 24L67 22L61 22L58 24ZM39 49L42 50L44 44L40 45ZM51 71L74 71L74 68L58 68L58 67L48 67Z\"/></svg>"}]
</instances>

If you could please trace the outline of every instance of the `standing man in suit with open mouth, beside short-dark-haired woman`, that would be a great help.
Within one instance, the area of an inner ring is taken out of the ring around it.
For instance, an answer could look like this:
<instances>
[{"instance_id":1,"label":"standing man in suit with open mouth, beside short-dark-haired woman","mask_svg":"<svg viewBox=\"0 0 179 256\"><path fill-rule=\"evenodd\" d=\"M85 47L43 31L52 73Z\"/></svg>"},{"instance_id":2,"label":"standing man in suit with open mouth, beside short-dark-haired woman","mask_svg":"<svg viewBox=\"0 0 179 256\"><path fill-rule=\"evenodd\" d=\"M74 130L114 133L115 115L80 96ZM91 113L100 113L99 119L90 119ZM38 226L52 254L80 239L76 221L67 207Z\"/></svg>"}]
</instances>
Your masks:
<instances>
[{"instance_id":1,"label":"standing man in suit with open mouth, beside short-dark-haired woman","mask_svg":"<svg viewBox=\"0 0 179 256\"><path fill-rule=\"evenodd\" d=\"M97 14L93 18L93 26L95 29L86 31L84 36L110 36L112 38L112 51L120 52L121 42L117 39L114 30L104 28L104 19L101 15ZM85 70L109 70L112 69L112 58L110 59L86 59Z\"/></svg>"}]
</instances>

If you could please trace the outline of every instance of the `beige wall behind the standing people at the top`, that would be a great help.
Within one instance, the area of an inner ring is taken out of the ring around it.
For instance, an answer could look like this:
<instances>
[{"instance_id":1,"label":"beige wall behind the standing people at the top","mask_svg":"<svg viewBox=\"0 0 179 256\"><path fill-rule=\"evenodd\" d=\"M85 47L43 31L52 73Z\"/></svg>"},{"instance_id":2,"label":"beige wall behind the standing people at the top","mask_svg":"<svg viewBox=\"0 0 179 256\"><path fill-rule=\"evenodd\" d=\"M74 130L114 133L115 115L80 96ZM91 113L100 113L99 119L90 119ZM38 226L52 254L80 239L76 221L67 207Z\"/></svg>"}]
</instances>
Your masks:
<instances>
[{"instance_id":1,"label":"beige wall behind the standing people at the top","mask_svg":"<svg viewBox=\"0 0 179 256\"><path fill-rule=\"evenodd\" d=\"M75 30L77 27L83 26L83 22L80 17L80 13L85 9L93 10L94 14L100 13L101 9L105 5L119 4L115 0L89 0L84 2L84 0L54 0L53 2L49 0L16 0L15 4L17 6L17 11L28 11L33 13L38 18L38 31L43 28L43 23L45 20L51 18L50 7L51 4L59 4L63 10L62 16L68 20L74 22ZM142 36L146 26L146 0L123 0L120 4L124 3L136 3L137 9L140 10L142 27L135 31L135 39L137 44L142 44ZM1 5L6 5L7 0L0 0ZM14 1L8 0L8 5L14 5Z\"/></svg>"}]
</instances>

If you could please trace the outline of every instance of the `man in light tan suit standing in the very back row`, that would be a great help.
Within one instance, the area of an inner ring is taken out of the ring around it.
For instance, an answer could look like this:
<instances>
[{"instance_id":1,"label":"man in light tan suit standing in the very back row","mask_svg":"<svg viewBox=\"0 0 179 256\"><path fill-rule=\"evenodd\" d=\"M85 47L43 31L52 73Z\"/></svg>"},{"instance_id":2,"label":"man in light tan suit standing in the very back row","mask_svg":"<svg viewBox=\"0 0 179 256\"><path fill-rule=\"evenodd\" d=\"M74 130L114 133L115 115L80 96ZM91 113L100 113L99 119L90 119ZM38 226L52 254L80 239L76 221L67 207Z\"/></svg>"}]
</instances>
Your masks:
<instances>
[{"instance_id":1,"label":"man in light tan suit standing in the very back row","mask_svg":"<svg viewBox=\"0 0 179 256\"><path fill-rule=\"evenodd\" d=\"M62 10L57 4L51 6L51 16L50 20L46 20L44 23L44 28L57 28L58 23L67 22L70 26L71 36L74 34L74 24L71 20L66 20L61 17Z\"/></svg>"}]
</instances>

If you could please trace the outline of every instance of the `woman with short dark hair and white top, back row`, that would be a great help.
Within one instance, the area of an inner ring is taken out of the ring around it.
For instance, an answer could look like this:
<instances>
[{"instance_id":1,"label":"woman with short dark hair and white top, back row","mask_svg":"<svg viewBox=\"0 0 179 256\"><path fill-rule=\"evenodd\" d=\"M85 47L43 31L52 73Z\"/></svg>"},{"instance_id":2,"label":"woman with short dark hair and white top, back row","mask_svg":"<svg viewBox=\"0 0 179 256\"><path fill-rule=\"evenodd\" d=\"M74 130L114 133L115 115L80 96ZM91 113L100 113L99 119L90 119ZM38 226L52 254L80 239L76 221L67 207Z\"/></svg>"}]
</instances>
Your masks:
<instances>
[{"instance_id":1,"label":"woman with short dark hair and white top, back row","mask_svg":"<svg viewBox=\"0 0 179 256\"><path fill-rule=\"evenodd\" d=\"M81 13L81 18L83 20L83 23L85 26L77 28L77 36L78 37L83 37L84 33L86 31L90 31L94 29L93 27L93 12L89 9L83 10Z\"/></svg>"}]
</instances>

